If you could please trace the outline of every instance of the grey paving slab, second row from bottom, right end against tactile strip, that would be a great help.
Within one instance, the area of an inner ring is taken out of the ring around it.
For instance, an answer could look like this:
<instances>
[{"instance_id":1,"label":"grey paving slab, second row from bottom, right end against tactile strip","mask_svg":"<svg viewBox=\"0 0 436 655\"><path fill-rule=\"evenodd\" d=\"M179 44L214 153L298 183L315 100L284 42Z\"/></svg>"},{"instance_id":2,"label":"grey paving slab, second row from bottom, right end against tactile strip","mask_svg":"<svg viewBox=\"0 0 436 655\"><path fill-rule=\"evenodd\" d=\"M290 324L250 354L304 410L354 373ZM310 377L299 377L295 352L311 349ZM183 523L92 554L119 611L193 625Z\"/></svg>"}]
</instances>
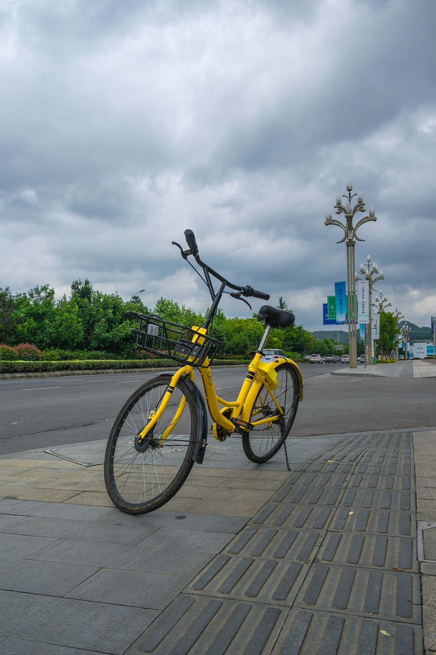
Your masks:
<instances>
[{"instance_id":1,"label":"grey paving slab, second row from bottom, right end against tactile strip","mask_svg":"<svg viewBox=\"0 0 436 655\"><path fill-rule=\"evenodd\" d=\"M192 573L155 574L141 571L101 569L65 595L82 601L130 605L163 610L191 580Z\"/></svg>"}]
</instances>

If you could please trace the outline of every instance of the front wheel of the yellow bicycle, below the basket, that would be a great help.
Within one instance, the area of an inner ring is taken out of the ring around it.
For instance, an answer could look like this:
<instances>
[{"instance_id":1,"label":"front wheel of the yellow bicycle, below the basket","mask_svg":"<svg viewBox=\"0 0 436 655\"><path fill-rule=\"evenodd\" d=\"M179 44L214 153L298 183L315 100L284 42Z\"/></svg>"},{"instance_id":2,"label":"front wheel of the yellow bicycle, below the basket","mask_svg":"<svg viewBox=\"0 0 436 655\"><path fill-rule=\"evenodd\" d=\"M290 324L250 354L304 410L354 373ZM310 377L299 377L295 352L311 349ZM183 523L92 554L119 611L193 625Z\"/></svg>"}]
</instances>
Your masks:
<instances>
[{"instance_id":1,"label":"front wheel of the yellow bicycle, below the basket","mask_svg":"<svg viewBox=\"0 0 436 655\"><path fill-rule=\"evenodd\" d=\"M105 485L113 504L128 514L146 514L179 491L194 464L197 411L189 386L179 380L160 419L142 442L137 436L158 411L171 375L136 390L122 407L105 453Z\"/></svg>"}]
</instances>

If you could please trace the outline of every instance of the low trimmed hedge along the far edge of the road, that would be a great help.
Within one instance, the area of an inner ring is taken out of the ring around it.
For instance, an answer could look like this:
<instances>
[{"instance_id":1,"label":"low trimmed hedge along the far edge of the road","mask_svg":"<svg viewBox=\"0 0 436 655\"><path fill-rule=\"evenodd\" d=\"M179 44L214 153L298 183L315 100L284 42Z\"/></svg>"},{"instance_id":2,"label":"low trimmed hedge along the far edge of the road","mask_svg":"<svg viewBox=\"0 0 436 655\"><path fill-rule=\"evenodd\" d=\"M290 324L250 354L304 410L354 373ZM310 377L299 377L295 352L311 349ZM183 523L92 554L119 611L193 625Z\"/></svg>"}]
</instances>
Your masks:
<instances>
[{"instance_id":1,"label":"low trimmed hedge along the far edge of the road","mask_svg":"<svg viewBox=\"0 0 436 655\"><path fill-rule=\"evenodd\" d=\"M237 360L214 360L213 366L236 366ZM174 368L173 360L71 360L69 362L0 362L0 373L56 373L110 369Z\"/></svg>"}]
</instances>

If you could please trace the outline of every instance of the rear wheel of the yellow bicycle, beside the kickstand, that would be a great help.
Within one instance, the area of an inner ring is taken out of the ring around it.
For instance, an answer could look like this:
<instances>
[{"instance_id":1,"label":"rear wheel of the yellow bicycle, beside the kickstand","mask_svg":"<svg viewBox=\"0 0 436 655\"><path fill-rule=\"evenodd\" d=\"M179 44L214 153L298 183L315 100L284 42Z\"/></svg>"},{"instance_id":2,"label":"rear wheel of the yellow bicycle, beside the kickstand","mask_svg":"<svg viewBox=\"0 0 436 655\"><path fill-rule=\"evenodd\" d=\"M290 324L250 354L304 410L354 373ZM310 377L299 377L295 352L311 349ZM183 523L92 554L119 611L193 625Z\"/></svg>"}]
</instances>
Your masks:
<instances>
[{"instance_id":1,"label":"rear wheel of the yellow bicycle, beside the kickstand","mask_svg":"<svg viewBox=\"0 0 436 655\"><path fill-rule=\"evenodd\" d=\"M299 404L300 384L293 365L287 362L280 364L276 373L278 386L273 393L283 414L263 384L250 413L249 422L255 425L252 430L242 434L244 453L256 464L267 462L280 450L291 430ZM256 425L257 421L268 418L271 420Z\"/></svg>"}]
</instances>

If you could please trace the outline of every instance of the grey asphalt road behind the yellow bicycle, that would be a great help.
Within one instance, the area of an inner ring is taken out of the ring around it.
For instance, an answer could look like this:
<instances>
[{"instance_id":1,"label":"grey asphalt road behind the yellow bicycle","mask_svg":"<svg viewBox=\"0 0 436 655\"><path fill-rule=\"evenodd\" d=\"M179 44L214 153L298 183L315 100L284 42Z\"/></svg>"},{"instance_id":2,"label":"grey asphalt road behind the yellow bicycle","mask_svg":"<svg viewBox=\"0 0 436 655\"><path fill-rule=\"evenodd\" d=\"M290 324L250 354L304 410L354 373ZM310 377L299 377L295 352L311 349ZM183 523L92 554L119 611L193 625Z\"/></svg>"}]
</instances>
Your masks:
<instances>
[{"instance_id":1,"label":"grey asphalt road behind the yellow bicycle","mask_svg":"<svg viewBox=\"0 0 436 655\"><path fill-rule=\"evenodd\" d=\"M436 379L329 375L302 364L304 400L291 436L436 426ZM219 395L236 398L245 369L215 369ZM105 439L125 400L155 373L0 380L0 456Z\"/></svg>"}]
</instances>

